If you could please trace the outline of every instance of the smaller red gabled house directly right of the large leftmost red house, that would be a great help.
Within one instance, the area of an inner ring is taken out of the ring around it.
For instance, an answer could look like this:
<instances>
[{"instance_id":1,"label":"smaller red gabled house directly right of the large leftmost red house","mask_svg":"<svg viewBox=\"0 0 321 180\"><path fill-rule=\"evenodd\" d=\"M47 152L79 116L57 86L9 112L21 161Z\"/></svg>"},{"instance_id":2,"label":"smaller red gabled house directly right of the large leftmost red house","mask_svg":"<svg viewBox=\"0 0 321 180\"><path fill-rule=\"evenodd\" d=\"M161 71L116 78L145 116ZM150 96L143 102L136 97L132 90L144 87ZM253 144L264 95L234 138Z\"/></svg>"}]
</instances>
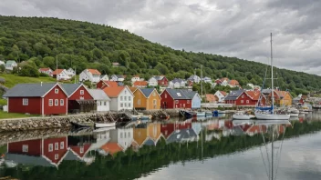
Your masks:
<instances>
[{"instance_id":1,"label":"smaller red gabled house directly right of the large leftmost red house","mask_svg":"<svg viewBox=\"0 0 321 180\"><path fill-rule=\"evenodd\" d=\"M90 112L95 110L95 100L83 84L63 84L67 93L68 112Z\"/></svg>"}]
</instances>

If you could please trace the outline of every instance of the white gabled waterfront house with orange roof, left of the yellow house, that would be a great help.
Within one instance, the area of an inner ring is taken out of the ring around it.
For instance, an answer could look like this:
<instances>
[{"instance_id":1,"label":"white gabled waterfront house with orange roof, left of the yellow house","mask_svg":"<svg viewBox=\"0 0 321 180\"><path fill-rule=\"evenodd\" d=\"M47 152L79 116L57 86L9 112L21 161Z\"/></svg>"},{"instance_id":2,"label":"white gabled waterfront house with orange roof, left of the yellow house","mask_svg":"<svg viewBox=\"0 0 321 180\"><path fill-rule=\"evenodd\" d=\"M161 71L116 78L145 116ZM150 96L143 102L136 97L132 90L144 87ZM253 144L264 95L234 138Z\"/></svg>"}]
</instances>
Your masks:
<instances>
[{"instance_id":1,"label":"white gabled waterfront house with orange roof, left of the yellow house","mask_svg":"<svg viewBox=\"0 0 321 180\"><path fill-rule=\"evenodd\" d=\"M109 95L110 110L120 111L123 109L133 109L134 95L131 93L129 87L125 86L115 86L115 87L105 87L104 92Z\"/></svg>"}]
</instances>

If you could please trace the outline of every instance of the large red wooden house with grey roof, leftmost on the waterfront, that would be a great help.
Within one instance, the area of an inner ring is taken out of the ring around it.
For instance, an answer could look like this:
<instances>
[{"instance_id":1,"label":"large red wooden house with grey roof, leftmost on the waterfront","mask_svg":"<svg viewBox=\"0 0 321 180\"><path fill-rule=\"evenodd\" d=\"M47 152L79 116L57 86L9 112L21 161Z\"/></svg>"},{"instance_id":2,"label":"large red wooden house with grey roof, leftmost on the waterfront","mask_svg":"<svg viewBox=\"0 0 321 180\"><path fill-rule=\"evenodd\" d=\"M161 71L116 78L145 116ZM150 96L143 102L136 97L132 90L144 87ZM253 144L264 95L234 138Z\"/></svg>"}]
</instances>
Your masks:
<instances>
[{"instance_id":1,"label":"large red wooden house with grey roof, leftmost on the waterfront","mask_svg":"<svg viewBox=\"0 0 321 180\"><path fill-rule=\"evenodd\" d=\"M8 113L67 115L67 93L57 83L18 84L3 96Z\"/></svg>"}]
</instances>

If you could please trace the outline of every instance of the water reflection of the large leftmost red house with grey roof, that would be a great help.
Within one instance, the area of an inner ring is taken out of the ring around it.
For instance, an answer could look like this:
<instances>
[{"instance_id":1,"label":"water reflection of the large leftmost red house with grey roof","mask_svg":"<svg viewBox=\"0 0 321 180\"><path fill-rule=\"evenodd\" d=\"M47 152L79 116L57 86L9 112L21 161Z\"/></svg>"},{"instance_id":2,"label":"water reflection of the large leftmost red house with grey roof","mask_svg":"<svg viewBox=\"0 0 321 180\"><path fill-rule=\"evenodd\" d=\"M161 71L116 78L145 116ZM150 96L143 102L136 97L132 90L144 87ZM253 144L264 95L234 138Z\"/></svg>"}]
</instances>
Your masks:
<instances>
[{"instance_id":1,"label":"water reflection of the large leftmost red house with grey roof","mask_svg":"<svg viewBox=\"0 0 321 180\"><path fill-rule=\"evenodd\" d=\"M8 143L5 159L18 164L57 167L66 155L67 137L55 137Z\"/></svg>"}]
</instances>

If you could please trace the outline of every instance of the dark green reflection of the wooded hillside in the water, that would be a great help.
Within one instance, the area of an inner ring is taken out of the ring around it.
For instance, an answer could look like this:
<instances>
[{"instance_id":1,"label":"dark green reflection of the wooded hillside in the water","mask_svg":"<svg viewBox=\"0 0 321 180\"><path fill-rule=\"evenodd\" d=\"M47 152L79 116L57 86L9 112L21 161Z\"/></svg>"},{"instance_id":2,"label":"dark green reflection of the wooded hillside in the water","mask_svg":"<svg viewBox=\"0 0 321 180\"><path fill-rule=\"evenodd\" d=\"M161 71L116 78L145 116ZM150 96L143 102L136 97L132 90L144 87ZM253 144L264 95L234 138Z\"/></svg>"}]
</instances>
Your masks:
<instances>
[{"instance_id":1,"label":"dark green reflection of the wooded hillside in the water","mask_svg":"<svg viewBox=\"0 0 321 180\"><path fill-rule=\"evenodd\" d=\"M285 138L313 133L321 130L321 122L309 121L292 123L286 128ZM214 131L215 132L215 131ZM138 152L129 148L126 152L119 152L111 156L98 155L91 165L78 161L63 161L58 169L42 166L18 165L15 168L4 168L1 176L11 175L19 179L134 179L149 174L162 166L171 163L186 163L203 158L212 158L216 155L226 155L243 151L253 146L262 145L262 135L226 136L221 140L212 138L205 142L206 132L202 132L203 152L199 142L166 144L161 138L156 146L145 145ZM281 138L280 135L278 138ZM265 138L268 142L269 138ZM198 145L199 143L199 145Z\"/></svg>"}]
</instances>

